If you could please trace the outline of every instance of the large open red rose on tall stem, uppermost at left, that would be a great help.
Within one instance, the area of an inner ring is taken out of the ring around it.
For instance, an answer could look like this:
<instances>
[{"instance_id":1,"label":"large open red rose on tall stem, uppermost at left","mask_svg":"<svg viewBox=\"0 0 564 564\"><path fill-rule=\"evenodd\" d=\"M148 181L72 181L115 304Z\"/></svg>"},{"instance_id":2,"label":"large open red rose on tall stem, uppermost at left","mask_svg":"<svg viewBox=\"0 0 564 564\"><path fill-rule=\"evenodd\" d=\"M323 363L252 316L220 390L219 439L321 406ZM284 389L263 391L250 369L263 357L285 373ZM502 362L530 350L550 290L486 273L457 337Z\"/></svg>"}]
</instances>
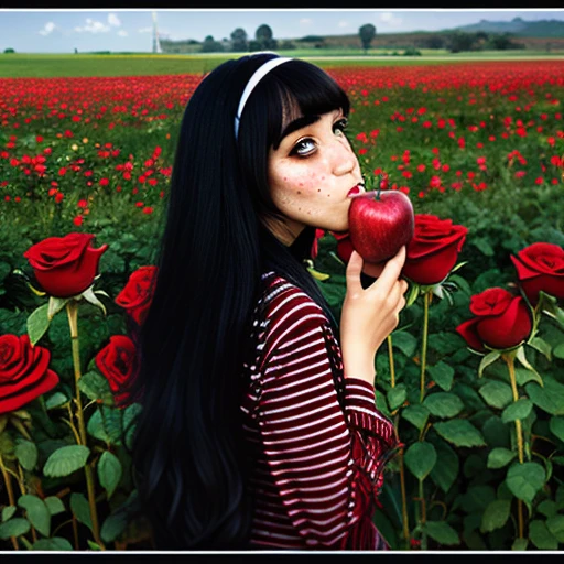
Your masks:
<instances>
[{"instance_id":1,"label":"large open red rose on tall stem, uppermost at left","mask_svg":"<svg viewBox=\"0 0 564 564\"><path fill-rule=\"evenodd\" d=\"M55 297L70 297L87 290L98 273L101 253L108 248L90 247L94 235L68 234L48 237L30 247L23 256L30 261L37 282Z\"/></svg>"}]
</instances>

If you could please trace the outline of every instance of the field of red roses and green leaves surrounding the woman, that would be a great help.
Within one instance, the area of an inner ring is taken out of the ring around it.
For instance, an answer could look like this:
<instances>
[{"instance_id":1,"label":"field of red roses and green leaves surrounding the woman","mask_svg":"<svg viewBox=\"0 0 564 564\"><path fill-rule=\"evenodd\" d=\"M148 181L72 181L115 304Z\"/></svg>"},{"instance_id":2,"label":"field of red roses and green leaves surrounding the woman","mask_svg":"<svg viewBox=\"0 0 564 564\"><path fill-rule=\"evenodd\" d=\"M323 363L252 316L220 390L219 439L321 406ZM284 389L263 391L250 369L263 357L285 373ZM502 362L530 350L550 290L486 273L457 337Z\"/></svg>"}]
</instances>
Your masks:
<instances>
[{"instance_id":1,"label":"field of red roses and green leaves surrounding the woman","mask_svg":"<svg viewBox=\"0 0 564 564\"><path fill-rule=\"evenodd\" d=\"M564 63L335 67L369 189L415 213L376 359L392 550L564 544ZM0 79L0 549L151 550L121 392L202 75ZM351 242L306 264L337 321ZM368 282L367 282L368 283Z\"/></svg>"}]
</instances>

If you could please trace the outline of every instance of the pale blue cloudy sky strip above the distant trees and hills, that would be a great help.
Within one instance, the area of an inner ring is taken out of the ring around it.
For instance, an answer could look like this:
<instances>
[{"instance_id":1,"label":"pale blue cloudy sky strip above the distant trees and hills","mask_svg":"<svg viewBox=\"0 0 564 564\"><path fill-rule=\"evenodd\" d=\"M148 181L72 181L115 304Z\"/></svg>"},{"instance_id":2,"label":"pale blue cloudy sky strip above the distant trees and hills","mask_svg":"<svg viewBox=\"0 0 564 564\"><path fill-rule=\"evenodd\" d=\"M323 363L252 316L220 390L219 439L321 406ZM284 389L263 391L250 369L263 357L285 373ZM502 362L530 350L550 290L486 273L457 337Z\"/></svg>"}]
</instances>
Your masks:
<instances>
[{"instance_id":1,"label":"pale blue cloudy sky strip above the distant trees and hills","mask_svg":"<svg viewBox=\"0 0 564 564\"><path fill-rule=\"evenodd\" d=\"M150 53L153 46L153 10L17 10L0 9L0 53L73 53L87 51L129 51ZM491 10L481 9L241 9L241 10L155 10L161 37L204 41L229 39L242 28L249 39L257 28L268 24L279 40L305 35L358 34L372 23L378 34L410 31L438 31L489 21L562 20L564 9Z\"/></svg>"}]
</instances>

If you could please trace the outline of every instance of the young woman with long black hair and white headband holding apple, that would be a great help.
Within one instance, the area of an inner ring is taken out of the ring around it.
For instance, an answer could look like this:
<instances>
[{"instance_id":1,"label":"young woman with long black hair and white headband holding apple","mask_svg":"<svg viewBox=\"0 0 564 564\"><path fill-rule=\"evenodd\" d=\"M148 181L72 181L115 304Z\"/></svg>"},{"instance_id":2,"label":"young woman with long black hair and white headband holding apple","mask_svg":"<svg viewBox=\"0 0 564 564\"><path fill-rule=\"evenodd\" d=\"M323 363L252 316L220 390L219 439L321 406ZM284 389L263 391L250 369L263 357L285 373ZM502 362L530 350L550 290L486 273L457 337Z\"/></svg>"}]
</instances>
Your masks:
<instances>
[{"instance_id":1,"label":"young woman with long black hair and white headband holding apple","mask_svg":"<svg viewBox=\"0 0 564 564\"><path fill-rule=\"evenodd\" d=\"M405 251L383 269L352 253L340 325L304 264L364 189L348 112L324 70L273 53L218 66L186 107L133 390L159 550L387 547L371 518L395 443L375 355Z\"/></svg>"}]
</instances>

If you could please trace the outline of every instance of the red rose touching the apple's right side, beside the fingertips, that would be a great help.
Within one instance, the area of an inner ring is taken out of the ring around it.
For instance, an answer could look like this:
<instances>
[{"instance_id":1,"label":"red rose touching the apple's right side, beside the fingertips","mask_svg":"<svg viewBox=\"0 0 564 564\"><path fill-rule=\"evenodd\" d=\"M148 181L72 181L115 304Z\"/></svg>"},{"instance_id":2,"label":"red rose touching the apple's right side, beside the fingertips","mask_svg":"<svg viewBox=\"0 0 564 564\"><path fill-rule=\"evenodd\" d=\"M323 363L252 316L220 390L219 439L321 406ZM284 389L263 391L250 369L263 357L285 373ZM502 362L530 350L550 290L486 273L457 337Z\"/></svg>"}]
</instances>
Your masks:
<instances>
[{"instance_id":1,"label":"red rose touching the apple's right side, beside the fingertips","mask_svg":"<svg viewBox=\"0 0 564 564\"><path fill-rule=\"evenodd\" d=\"M417 284L437 284L456 264L467 232L452 219L415 214L415 232L408 245L402 274Z\"/></svg>"}]
</instances>

